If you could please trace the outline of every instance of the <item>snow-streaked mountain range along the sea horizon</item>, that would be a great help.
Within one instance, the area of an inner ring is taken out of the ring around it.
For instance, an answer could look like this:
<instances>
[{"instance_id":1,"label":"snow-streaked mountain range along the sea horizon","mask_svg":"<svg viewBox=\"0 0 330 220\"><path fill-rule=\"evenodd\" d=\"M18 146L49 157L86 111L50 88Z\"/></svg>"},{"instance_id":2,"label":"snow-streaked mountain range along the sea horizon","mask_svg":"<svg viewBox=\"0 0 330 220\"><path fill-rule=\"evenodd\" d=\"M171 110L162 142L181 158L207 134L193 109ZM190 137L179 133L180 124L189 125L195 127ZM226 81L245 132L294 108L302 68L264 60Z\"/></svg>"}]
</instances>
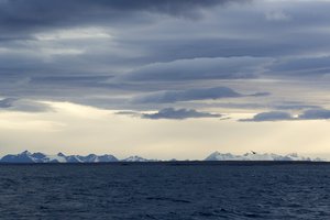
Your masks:
<instances>
[{"instance_id":1,"label":"snow-streaked mountain range along the sea horizon","mask_svg":"<svg viewBox=\"0 0 330 220\"><path fill-rule=\"evenodd\" d=\"M170 160L176 161L176 160ZM188 161L188 160L187 160ZM324 162L321 158L301 157L296 153L287 155L278 154L260 154L256 152L246 153L243 155L234 155L230 153L213 152L202 161L304 161L304 162ZM58 153L56 155L47 155L41 152L31 153L24 151L19 154L8 154L0 160L0 163L111 163L111 162L166 162L161 160L148 160L141 156L130 156L119 160L111 154L96 155L89 154L87 156L80 155L65 155Z\"/></svg>"}]
</instances>

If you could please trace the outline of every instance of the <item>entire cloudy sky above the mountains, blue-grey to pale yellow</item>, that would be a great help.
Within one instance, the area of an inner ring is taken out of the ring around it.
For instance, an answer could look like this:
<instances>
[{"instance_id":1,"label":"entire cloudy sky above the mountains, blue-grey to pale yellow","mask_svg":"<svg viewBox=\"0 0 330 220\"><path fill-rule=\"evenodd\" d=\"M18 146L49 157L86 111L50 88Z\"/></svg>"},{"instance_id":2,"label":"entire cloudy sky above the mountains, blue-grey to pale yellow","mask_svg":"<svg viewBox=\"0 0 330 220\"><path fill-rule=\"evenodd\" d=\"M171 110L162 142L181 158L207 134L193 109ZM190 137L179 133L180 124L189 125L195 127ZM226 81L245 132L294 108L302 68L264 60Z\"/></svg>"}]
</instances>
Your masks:
<instances>
[{"instance_id":1,"label":"entire cloudy sky above the mountains, blue-grey to pale yellow","mask_svg":"<svg viewBox=\"0 0 330 220\"><path fill-rule=\"evenodd\" d=\"M0 155L330 160L330 1L0 0Z\"/></svg>"}]
</instances>

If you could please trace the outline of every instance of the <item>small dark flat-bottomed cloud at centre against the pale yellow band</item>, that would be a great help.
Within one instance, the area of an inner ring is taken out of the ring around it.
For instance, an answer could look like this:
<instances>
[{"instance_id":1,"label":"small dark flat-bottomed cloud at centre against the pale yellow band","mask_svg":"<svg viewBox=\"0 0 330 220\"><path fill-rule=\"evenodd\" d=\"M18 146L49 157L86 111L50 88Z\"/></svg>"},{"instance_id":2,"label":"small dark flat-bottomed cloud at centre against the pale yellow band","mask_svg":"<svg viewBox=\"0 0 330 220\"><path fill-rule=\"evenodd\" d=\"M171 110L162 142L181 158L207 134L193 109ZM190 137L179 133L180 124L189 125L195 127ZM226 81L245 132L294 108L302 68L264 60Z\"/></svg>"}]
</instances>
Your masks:
<instances>
[{"instance_id":1,"label":"small dark flat-bottomed cloud at centre against the pale yellow band","mask_svg":"<svg viewBox=\"0 0 330 220\"><path fill-rule=\"evenodd\" d=\"M209 113L209 112L200 112L194 109L174 109L174 108L165 108L160 110L156 113L143 113L142 118L144 119L190 119L190 118L220 118L221 114L218 113Z\"/></svg>"}]
</instances>

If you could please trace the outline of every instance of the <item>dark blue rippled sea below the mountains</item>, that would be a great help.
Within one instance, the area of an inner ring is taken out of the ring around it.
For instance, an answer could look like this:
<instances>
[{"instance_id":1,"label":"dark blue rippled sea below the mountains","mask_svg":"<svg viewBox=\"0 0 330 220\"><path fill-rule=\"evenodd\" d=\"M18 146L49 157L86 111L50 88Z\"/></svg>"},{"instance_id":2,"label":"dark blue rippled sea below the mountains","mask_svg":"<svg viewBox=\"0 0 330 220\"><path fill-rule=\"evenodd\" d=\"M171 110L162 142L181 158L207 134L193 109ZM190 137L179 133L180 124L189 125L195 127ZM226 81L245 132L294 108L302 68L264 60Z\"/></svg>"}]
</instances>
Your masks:
<instances>
[{"instance_id":1,"label":"dark blue rippled sea below the mountains","mask_svg":"<svg viewBox=\"0 0 330 220\"><path fill-rule=\"evenodd\" d=\"M0 165L0 219L330 219L330 165Z\"/></svg>"}]
</instances>

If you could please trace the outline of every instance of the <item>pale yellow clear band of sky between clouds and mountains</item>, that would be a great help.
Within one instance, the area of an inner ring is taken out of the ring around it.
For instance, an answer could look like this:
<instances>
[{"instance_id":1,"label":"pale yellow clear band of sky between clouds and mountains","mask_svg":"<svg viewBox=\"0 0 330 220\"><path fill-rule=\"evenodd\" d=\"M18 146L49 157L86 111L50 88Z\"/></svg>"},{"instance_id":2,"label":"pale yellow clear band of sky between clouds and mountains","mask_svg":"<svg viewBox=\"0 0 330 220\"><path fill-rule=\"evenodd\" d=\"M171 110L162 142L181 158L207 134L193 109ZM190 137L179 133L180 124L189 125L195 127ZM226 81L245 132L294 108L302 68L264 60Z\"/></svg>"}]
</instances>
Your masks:
<instances>
[{"instance_id":1,"label":"pale yellow clear band of sky between clouds and mountains","mask_svg":"<svg viewBox=\"0 0 330 220\"><path fill-rule=\"evenodd\" d=\"M53 111L0 112L2 154L25 148L52 154L88 154L92 150L92 153L110 153L120 158L140 154L160 160L202 160L213 151L243 154L246 148L253 148L327 157L329 138L326 136L330 129L327 121L237 121L251 113L233 113L228 120L151 120L69 102L43 103L50 105ZM310 127L318 129L309 131ZM306 132L318 141L301 136Z\"/></svg>"}]
</instances>

